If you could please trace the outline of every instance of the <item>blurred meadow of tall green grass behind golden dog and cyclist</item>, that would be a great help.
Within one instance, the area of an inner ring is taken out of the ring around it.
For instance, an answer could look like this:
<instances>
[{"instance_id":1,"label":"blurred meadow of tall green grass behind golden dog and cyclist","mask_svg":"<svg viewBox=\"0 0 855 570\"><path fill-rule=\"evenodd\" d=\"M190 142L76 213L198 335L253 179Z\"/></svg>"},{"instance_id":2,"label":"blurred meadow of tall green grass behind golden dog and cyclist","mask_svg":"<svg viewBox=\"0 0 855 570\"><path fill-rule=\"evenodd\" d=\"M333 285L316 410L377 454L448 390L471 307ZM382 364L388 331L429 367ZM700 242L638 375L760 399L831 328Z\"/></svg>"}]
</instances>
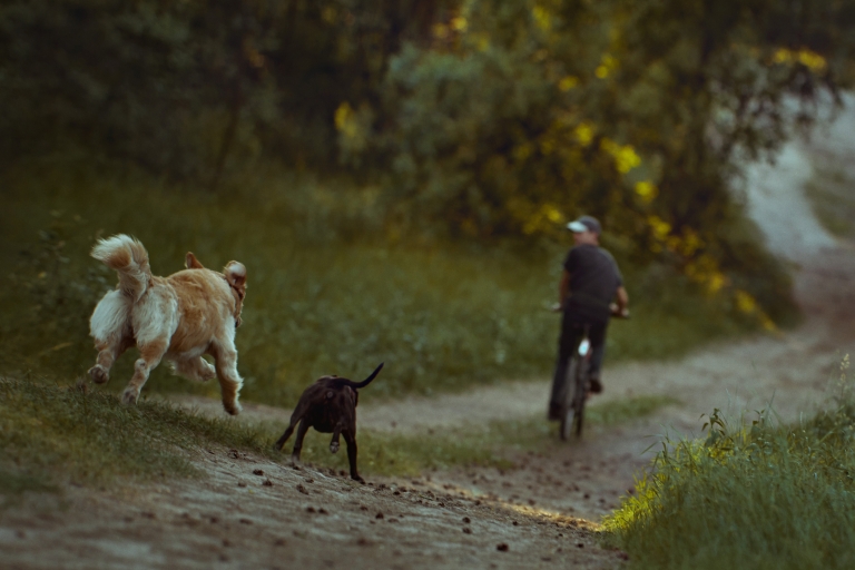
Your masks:
<instances>
[{"instance_id":1,"label":"blurred meadow of tall green grass behind golden dog and cyclist","mask_svg":"<svg viewBox=\"0 0 855 570\"><path fill-rule=\"evenodd\" d=\"M247 400L293 405L315 377L360 377L380 362L366 397L542 377L552 366L559 317L546 307L569 236L541 246L407 240L381 227L372 188L274 170L210 195L66 157L21 165L0 184L0 263L12 268L0 289L0 370L76 376L91 366L88 317L116 277L88 252L116 233L141 239L159 275L181 269L187 250L213 268L247 266L237 332ZM609 362L678 356L745 330L679 276L621 263L637 302L632 321L611 326ZM134 358L120 358L109 390ZM149 390L218 389L160 366Z\"/></svg>"}]
</instances>

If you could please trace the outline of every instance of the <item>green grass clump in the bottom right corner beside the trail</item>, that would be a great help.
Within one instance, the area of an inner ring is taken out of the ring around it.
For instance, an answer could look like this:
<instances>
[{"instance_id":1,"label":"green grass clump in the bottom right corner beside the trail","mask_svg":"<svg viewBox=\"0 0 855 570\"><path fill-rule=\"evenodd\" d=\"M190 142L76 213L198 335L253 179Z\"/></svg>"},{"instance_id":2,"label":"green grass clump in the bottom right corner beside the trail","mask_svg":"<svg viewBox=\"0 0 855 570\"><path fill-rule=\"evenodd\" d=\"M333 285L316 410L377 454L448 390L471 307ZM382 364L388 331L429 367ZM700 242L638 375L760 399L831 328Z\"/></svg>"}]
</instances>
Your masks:
<instances>
[{"instance_id":1,"label":"green grass clump in the bottom right corner beside the trail","mask_svg":"<svg viewBox=\"0 0 855 570\"><path fill-rule=\"evenodd\" d=\"M844 360L843 374L848 366ZM666 442L605 524L631 568L855 566L855 393L794 425L709 417L706 441Z\"/></svg>"}]
</instances>

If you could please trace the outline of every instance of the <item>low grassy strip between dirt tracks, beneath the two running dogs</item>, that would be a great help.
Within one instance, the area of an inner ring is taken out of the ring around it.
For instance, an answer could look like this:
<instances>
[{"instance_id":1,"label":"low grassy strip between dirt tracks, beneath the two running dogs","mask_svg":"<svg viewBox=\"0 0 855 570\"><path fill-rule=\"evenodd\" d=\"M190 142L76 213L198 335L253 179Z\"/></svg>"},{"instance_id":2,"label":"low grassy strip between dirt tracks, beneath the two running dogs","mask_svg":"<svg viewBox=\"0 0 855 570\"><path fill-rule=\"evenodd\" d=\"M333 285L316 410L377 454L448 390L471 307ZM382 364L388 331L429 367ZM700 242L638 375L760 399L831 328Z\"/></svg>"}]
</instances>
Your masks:
<instances>
[{"instance_id":1,"label":"low grassy strip between dirt tracks, beneath the two running dogs","mask_svg":"<svg viewBox=\"0 0 855 570\"><path fill-rule=\"evenodd\" d=\"M649 414L667 399L639 397L593 406L592 426ZM69 384L0 379L0 505L26 491L60 491L65 484L111 485L171 476L204 476L193 466L200 449L238 449L285 462L272 449L284 429L188 413L164 402L131 407L104 392ZM436 430L431 438L360 430L360 468L365 475L415 475L461 464L510 466L513 449L560 445L546 420L494 422L481 429ZM330 435L306 436L303 460L316 468L346 470L346 453L328 451Z\"/></svg>"}]
</instances>

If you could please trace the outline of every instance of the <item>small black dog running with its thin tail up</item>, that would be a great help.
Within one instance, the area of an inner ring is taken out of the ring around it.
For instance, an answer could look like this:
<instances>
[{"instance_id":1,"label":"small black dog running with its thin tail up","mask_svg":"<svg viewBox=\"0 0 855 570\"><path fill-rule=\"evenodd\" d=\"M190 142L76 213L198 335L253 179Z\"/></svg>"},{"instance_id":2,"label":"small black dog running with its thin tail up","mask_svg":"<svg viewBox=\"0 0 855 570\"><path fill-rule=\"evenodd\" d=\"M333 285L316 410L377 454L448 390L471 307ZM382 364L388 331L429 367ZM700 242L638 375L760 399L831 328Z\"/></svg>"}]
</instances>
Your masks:
<instances>
[{"instance_id":1,"label":"small black dog running with its thin tail up","mask_svg":"<svg viewBox=\"0 0 855 570\"><path fill-rule=\"evenodd\" d=\"M294 442L294 451L291 454L291 459L295 462L299 461L303 438L309 428L321 433L333 434L333 441L330 442L330 451L333 453L338 451L338 435L344 435L344 441L347 443L347 461L351 463L351 479L364 483L365 481L356 471L356 403L360 401L360 394L356 391L367 386L382 367L383 363L371 373L371 376L360 383L338 376L317 379L299 396L297 407L291 414L291 424L276 442L276 449L281 450L285 445L294 433L297 422L299 422L297 440Z\"/></svg>"}]
</instances>

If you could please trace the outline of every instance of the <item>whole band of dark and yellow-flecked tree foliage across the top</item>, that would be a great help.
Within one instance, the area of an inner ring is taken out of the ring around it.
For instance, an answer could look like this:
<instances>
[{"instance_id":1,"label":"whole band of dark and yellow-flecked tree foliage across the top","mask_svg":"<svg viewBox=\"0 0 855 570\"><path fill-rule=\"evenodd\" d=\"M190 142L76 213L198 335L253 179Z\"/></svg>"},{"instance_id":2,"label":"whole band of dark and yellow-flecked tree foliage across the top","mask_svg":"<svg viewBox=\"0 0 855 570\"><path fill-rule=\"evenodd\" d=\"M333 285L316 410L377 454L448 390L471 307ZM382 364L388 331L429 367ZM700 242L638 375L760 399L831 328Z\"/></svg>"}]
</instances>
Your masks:
<instances>
[{"instance_id":1,"label":"whole band of dark and yellow-flecked tree foliage across the top","mask_svg":"<svg viewBox=\"0 0 855 570\"><path fill-rule=\"evenodd\" d=\"M728 188L848 85L854 31L855 0L8 0L0 154L71 141L209 187L345 169L395 235L586 212L769 307L786 286Z\"/></svg>"}]
</instances>

